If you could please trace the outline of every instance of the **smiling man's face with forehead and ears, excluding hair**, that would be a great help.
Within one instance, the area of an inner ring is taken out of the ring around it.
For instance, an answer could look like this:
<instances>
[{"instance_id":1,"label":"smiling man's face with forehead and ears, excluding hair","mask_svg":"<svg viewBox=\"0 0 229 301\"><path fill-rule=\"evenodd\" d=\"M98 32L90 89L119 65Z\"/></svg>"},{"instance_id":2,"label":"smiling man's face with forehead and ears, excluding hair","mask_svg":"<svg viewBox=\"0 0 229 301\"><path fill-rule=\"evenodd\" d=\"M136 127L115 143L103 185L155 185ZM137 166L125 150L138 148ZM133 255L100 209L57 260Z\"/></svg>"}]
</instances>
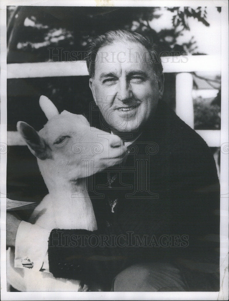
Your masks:
<instances>
[{"instance_id":1,"label":"smiling man's face with forehead and ears, excluding hair","mask_svg":"<svg viewBox=\"0 0 229 301\"><path fill-rule=\"evenodd\" d=\"M113 130L136 132L154 114L163 79L156 79L143 45L118 41L97 52L90 88Z\"/></svg>"}]
</instances>

